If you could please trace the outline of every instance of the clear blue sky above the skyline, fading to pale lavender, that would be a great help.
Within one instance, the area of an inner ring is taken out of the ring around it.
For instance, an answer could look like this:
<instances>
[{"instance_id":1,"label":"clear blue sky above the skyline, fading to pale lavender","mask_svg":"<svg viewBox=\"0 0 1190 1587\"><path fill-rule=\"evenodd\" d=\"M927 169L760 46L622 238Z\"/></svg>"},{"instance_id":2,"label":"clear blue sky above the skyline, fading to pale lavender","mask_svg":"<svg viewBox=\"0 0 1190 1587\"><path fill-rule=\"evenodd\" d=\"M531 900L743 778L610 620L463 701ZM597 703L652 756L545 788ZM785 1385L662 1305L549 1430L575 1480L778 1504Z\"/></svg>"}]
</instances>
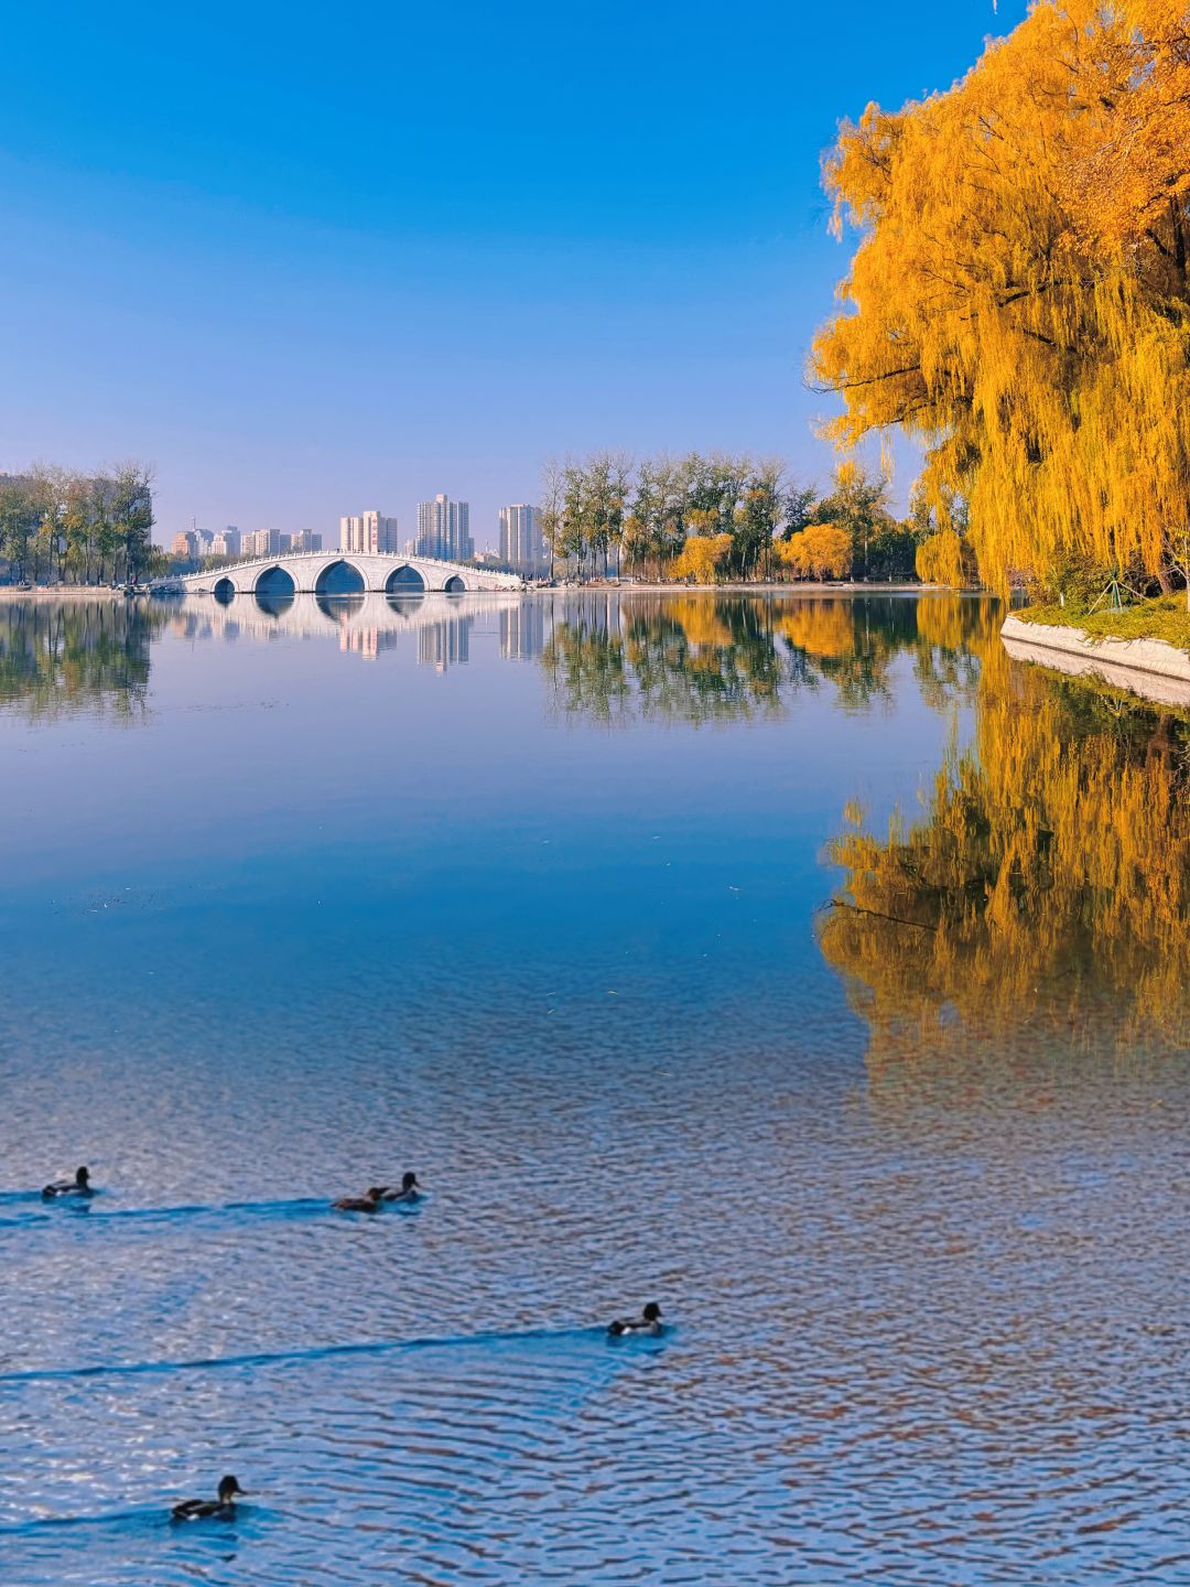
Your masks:
<instances>
[{"instance_id":1,"label":"clear blue sky above the skyline, fading to pale lavender","mask_svg":"<svg viewBox=\"0 0 1190 1587\"><path fill-rule=\"evenodd\" d=\"M10 8L0 468L151 460L159 538L446 490L481 546L566 451L825 479L820 154L1023 10Z\"/></svg>"}]
</instances>

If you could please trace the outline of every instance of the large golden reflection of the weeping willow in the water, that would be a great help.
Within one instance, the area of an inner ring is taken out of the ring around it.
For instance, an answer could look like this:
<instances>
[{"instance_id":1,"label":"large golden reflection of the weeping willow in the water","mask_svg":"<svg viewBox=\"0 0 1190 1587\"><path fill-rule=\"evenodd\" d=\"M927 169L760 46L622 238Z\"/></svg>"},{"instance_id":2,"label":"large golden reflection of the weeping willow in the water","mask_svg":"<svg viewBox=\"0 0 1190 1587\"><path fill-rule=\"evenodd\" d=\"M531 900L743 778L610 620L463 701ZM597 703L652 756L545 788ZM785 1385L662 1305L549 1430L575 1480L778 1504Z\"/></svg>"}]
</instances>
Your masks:
<instances>
[{"instance_id":1,"label":"large golden reflection of the weeping willow in the water","mask_svg":"<svg viewBox=\"0 0 1190 1587\"><path fill-rule=\"evenodd\" d=\"M820 944L868 1020L869 1062L1184 1052L1190 724L1012 668L973 606L935 608L952 643L927 673L919 660L927 692L966 687L969 646L971 751L947 757L923 820L831 844L844 881Z\"/></svg>"}]
</instances>

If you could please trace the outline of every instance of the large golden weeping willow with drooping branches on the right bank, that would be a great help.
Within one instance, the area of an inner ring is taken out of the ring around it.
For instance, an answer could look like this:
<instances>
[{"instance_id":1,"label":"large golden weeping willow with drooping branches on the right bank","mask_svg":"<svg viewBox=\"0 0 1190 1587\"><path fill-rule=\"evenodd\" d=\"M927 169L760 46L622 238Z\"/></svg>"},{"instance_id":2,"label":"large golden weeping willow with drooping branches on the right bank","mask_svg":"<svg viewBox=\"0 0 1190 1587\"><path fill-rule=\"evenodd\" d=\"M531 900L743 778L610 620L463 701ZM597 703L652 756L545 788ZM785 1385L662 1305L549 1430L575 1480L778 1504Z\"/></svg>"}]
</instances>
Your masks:
<instances>
[{"instance_id":1,"label":"large golden weeping willow with drooping branches on the right bank","mask_svg":"<svg viewBox=\"0 0 1190 1587\"><path fill-rule=\"evenodd\" d=\"M916 436L939 527L958 492L995 587L1071 562L1168 587L1190 500L1185 0L1035 5L949 92L844 124L825 184L863 233L812 352L844 400L833 438Z\"/></svg>"}]
</instances>

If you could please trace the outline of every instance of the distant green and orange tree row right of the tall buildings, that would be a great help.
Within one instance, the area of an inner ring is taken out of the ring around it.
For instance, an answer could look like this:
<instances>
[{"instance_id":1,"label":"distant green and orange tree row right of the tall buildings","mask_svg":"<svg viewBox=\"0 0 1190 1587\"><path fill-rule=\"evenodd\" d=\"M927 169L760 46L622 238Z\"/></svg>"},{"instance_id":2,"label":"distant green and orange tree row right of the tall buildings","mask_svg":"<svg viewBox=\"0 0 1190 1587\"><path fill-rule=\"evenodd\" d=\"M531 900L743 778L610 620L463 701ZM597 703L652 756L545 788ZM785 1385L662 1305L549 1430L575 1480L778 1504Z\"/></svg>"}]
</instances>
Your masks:
<instances>
[{"instance_id":1,"label":"distant green and orange tree row right of the tall buildings","mask_svg":"<svg viewBox=\"0 0 1190 1587\"><path fill-rule=\"evenodd\" d=\"M944 522L914 495L895 517L884 473L841 463L831 487L790 481L774 459L727 452L646 457L592 452L546 465L541 525L554 573L620 571L693 584L725 579L923 578L965 584L962 501Z\"/></svg>"}]
</instances>

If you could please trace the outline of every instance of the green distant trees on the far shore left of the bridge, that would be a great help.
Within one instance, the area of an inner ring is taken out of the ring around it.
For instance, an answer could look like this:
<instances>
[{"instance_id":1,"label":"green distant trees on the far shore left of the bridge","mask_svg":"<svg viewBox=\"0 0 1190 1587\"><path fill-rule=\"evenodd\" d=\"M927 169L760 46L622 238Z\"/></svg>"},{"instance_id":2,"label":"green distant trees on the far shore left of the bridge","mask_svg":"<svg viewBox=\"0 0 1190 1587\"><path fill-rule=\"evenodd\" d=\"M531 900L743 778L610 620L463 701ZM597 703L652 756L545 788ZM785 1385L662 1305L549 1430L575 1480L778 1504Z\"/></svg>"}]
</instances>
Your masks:
<instances>
[{"instance_id":1,"label":"green distant trees on the far shore left of the bridge","mask_svg":"<svg viewBox=\"0 0 1190 1587\"><path fill-rule=\"evenodd\" d=\"M163 563L152 525L152 473L141 463L98 475L43 465L0 475L0 578L133 582Z\"/></svg>"}]
</instances>

